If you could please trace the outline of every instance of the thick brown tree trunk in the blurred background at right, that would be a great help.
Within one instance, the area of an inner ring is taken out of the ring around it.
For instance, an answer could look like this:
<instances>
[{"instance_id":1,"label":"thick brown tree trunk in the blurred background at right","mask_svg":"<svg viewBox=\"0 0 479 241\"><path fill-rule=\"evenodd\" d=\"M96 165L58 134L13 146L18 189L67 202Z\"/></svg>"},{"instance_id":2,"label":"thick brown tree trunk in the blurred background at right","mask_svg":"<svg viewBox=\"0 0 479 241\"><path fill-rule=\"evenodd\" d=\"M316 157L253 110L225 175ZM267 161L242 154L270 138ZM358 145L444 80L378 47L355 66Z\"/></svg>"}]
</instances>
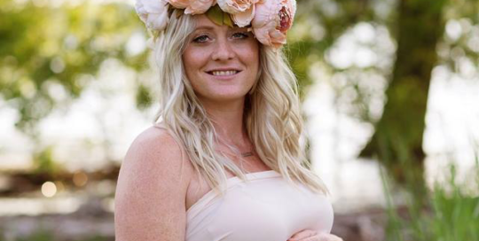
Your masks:
<instances>
[{"instance_id":1,"label":"thick brown tree trunk in the blurred background at right","mask_svg":"<svg viewBox=\"0 0 479 241\"><path fill-rule=\"evenodd\" d=\"M422 136L436 43L443 35L447 0L400 0L397 59L381 121L361 157L376 157L397 183L424 190ZM407 182L406 182L407 181Z\"/></svg>"}]
</instances>

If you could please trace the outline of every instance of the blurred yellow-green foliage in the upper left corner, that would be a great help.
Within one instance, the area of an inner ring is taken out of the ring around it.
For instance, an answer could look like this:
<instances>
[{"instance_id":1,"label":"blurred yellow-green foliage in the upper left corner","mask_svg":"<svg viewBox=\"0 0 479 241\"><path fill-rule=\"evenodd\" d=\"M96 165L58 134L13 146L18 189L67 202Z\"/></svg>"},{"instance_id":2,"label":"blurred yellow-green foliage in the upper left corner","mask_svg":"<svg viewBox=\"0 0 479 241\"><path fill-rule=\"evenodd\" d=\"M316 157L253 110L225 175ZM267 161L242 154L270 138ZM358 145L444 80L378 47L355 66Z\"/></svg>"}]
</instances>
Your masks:
<instances>
[{"instance_id":1,"label":"blurred yellow-green foliage in the upper left corner","mask_svg":"<svg viewBox=\"0 0 479 241\"><path fill-rule=\"evenodd\" d=\"M0 96L20 111L17 126L30 134L54 107L79 97L107 58L141 70L147 55L126 48L131 35L145 34L130 5L35 3L0 5Z\"/></svg>"}]
</instances>

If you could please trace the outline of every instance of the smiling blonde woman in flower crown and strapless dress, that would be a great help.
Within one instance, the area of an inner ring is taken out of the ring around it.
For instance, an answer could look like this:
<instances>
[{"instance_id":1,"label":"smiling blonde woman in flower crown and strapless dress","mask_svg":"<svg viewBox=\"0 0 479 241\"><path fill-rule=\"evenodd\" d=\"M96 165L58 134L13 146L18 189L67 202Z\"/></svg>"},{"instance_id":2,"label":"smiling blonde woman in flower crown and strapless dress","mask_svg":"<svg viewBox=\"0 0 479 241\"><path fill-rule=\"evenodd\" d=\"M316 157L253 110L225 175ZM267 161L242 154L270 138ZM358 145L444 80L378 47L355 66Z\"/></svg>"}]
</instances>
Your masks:
<instances>
[{"instance_id":1,"label":"smiling blonde woman in flower crown and strapless dress","mask_svg":"<svg viewBox=\"0 0 479 241\"><path fill-rule=\"evenodd\" d=\"M279 51L294 11L289 0L137 3L155 35L161 111L123 161L117 241L342 240L302 155Z\"/></svg>"}]
</instances>

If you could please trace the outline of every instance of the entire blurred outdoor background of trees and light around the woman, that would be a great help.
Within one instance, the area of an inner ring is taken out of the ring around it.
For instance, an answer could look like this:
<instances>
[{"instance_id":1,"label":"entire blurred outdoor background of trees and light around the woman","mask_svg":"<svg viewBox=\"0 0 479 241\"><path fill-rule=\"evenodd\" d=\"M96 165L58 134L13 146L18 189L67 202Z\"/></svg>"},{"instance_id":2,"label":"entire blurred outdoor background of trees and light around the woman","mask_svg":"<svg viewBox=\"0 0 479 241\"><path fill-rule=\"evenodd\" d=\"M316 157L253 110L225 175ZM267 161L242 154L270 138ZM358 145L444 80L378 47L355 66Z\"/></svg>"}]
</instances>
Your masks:
<instances>
[{"instance_id":1,"label":"entire blurred outdoor background of trees and light around the woman","mask_svg":"<svg viewBox=\"0 0 479 241\"><path fill-rule=\"evenodd\" d=\"M147 39L133 0L0 0L0 241L114 240ZM479 240L479 0L298 0L286 52L334 234Z\"/></svg>"}]
</instances>

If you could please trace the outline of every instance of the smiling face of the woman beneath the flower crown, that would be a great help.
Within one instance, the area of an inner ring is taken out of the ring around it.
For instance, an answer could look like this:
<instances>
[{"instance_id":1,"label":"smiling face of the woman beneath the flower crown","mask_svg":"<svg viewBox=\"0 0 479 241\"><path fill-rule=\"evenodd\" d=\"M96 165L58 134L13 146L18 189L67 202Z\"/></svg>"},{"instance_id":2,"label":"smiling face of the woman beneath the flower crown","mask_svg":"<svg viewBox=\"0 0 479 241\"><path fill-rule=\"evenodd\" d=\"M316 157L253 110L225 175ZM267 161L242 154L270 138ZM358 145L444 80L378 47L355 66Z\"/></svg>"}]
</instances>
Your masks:
<instances>
[{"instance_id":1,"label":"smiling face of the woman beneath the flower crown","mask_svg":"<svg viewBox=\"0 0 479 241\"><path fill-rule=\"evenodd\" d=\"M194 15L196 29L183 54L188 80L204 101L244 100L259 67L259 43L246 27L217 26Z\"/></svg>"}]
</instances>

